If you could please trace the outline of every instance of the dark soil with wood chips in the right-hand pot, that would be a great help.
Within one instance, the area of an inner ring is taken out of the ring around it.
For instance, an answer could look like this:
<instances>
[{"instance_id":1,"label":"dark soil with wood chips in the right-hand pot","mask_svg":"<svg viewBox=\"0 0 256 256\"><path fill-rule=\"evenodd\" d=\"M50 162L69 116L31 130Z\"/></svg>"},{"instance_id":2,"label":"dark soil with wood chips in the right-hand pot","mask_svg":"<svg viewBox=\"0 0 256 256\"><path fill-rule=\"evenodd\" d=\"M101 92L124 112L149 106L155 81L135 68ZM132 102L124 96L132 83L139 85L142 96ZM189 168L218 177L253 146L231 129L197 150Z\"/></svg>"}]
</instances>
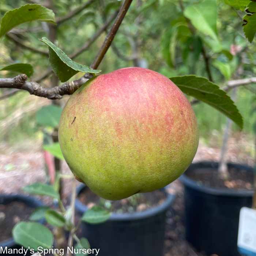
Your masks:
<instances>
[{"instance_id":1,"label":"dark soil with wood chips in the right-hand pot","mask_svg":"<svg viewBox=\"0 0 256 256\"><path fill-rule=\"evenodd\" d=\"M187 172L186 175L200 185L211 188L229 188L229 189L253 189L253 172L230 168L229 177L225 180L218 176L218 170L212 168L197 169Z\"/></svg>"}]
</instances>

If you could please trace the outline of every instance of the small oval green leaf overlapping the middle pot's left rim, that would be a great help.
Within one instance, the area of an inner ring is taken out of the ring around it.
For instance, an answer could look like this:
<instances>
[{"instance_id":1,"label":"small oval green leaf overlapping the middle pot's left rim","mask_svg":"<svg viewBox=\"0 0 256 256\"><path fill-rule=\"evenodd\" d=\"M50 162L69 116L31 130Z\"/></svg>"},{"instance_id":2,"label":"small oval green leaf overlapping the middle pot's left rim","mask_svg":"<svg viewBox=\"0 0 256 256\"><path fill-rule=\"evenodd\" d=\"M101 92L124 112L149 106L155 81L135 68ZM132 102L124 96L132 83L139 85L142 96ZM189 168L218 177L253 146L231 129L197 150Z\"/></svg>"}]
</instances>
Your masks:
<instances>
[{"instance_id":1,"label":"small oval green leaf overlapping the middle pot's left rim","mask_svg":"<svg viewBox=\"0 0 256 256\"><path fill-rule=\"evenodd\" d=\"M107 221L110 215L110 212L106 211L104 208L94 206L91 209L84 212L82 216L82 221L88 222L90 224L97 224Z\"/></svg>"}]
</instances>

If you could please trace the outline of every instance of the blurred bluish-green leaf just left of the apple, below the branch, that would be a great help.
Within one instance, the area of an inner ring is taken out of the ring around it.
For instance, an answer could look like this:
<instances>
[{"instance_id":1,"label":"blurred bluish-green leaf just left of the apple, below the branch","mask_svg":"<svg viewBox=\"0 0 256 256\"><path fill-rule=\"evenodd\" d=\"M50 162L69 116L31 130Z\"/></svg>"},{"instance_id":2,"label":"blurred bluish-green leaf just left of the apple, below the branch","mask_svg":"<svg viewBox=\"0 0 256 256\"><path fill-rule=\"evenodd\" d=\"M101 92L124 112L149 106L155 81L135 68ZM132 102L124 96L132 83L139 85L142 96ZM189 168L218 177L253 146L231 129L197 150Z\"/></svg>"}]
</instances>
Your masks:
<instances>
[{"instance_id":1,"label":"blurred bluish-green leaf just left of the apple, below the branch","mask_svg":"<svg viewBox=\"0 0 256 256\"><path fill-rule=\"evenodd\" d=\"M35 115L37 124L42 126L58 127L62 109L59 106L48 105L39 109Z\"/></svg>"}]
</instances>

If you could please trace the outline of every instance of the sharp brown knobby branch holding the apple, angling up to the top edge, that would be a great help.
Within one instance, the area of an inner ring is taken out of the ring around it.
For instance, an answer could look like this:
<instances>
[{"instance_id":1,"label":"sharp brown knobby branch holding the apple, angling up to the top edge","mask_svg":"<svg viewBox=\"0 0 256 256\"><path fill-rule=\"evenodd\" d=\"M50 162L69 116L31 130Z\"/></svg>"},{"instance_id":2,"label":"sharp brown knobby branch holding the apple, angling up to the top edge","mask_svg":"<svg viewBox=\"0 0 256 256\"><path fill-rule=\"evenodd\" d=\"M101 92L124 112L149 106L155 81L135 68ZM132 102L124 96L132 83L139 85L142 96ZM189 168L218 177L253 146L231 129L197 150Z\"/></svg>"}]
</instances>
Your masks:
<instances>
[{"instance_id":1,"label":"sharp brown knobby branch holding the apple, angling up to the top edge","mask_svg":"<svg viewBox=\"0 0 256 256\"><path fill-rule=\"evenodd\" d=\"M98 65L101 63L131 3L132 3L132 0L124 0L124 3L120 8L120 11L116 17L116 20L112 28L110 29L108 35L106 36L101 48L99 49L97 57L95 58L93 64L91 65L92 68L94 69L98 68ZM84 76L82 76L78 80L65 82L60 86L55 86L52 88L45 88L45 87L42 87L37 82L27 81L27 76L25 74L21 74L21 75L15 76L14 78L0 78L0 88L15 88L20 90L26 90L30 94L33 94L36 96L45 97L48 99L60 99L62 98L63 95L73 94L80 86L82 86L91 77L92 77L91 74L86 73Z\"/></svg>"}]
</instances>

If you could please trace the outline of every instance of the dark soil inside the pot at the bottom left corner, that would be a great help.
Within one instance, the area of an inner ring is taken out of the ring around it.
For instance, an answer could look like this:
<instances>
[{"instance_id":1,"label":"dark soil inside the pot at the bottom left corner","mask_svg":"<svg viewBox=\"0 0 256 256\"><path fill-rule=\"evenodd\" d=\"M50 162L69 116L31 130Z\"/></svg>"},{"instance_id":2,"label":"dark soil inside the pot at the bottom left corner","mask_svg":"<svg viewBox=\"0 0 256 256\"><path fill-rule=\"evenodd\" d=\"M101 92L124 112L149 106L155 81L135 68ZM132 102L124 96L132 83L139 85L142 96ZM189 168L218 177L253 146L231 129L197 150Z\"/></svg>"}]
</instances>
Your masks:
<instances>
[{"instance_id":1,"label":"dark soil inside the pot at the bottom left corner","mask_svg":"<svg viewBox=\"0 0 256 256\"><path fill-rule=\"evenodd\" d=\"M14 225L20 221L28 220L33 211L34 208L21 202L0 204L0 242L11 238Z\"/></svg>"}]
</instances>

